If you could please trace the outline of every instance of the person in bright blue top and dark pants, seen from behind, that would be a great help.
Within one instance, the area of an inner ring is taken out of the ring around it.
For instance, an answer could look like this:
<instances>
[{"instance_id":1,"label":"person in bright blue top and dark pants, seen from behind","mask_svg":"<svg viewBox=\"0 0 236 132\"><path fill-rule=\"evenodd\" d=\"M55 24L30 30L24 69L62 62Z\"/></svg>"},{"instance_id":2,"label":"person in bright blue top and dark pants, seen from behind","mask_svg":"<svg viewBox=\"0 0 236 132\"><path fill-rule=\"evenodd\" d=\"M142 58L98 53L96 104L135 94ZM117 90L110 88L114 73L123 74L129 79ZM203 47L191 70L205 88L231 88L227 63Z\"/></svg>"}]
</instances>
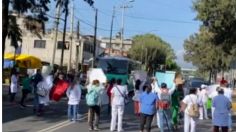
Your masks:
<instances>
[{"instance_id":1,"label":"person in bright blue top and dark pants, seen from behind","mask_svg":"<svg viewBox=\"0 0 236 132\"><path fill-rule=\"evenodd\" d=\"M158 96L152 93L151 86L145 85L145 91L140 95L140 132L144 131L144 126L146 124L146 132L151 131L151 124L153 117L156 113L156 103L158 102Z\"/></svg>"}]
</instances>

